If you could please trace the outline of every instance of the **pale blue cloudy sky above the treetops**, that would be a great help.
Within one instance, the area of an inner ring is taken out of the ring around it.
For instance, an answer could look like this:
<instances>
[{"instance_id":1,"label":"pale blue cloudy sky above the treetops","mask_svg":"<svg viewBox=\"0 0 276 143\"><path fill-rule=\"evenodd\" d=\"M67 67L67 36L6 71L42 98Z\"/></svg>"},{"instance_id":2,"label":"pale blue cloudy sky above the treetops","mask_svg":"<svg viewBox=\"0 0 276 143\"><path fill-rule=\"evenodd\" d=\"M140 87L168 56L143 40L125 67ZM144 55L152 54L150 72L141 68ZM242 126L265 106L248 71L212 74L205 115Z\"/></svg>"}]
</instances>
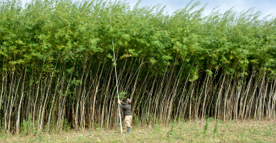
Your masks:
<instances>
[{"instance_id":1,"label":"pale blue cloudy sky above the treetops","mask_svg":"<svg viewBox=\"0 0 276 143\"><path fill-rule=\"evenodd\" d=\"M26 3L26 1L30 0L22 0L23 3ZM126 2L129 3L132 8L137 3L137 1L138 0L126 0ZM190 0L141 0L140 6L153 6L162 4L166 5L165 12L172 14L178 9L185 8L189 2ZM255 12L262 12L262 16L260 18L265 17L268 14L272 14L271 17L276 16L276 0L201 0L201 4L197 6L195 10L202 8L206 3L208 4L204 10L204 16L210 14L210 12L212 12L212 10L217 6L220 12L226 12L226 10L229 10L233 7L236 12L242 12L243 10L255 8Z\"/></svg>"}]
</instances>

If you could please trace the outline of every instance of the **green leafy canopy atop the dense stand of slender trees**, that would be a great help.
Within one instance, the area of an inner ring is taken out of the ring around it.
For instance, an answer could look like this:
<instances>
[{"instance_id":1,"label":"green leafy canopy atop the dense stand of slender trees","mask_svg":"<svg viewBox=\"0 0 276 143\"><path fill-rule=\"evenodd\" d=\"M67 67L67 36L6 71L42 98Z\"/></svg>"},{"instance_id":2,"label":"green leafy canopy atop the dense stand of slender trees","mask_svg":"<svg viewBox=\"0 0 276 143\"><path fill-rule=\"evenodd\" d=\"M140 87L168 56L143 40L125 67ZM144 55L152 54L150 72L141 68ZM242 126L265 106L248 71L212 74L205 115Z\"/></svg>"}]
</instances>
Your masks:
<instances>
[{"instance_id":1,"label":"green leafy canopy atop the dense stand of slender trees","mask_svg":"<svg viewBox=\"0 0 276 143\"><path fill-rule=\"evenodd\" d=\"M33 0L25 8L6 1L0 5L0 56L8 65L39 65L49 72L57 61L84 62L85 54L112 59L112 37L120 60L144 57L163 69L180 56L190 63L233 68L241 75L254 63L275 75L275 18L260 20L253 9L201 17L204 8L191 12L197 5L191 1L166 15L159 5L139 8L137 3L130 9L124 1ZM66 69L70 72L70 66ZM212 69L205 70L213 75ZM193 72L190 81L198 76Z\"/></svg>"}]
</instances>

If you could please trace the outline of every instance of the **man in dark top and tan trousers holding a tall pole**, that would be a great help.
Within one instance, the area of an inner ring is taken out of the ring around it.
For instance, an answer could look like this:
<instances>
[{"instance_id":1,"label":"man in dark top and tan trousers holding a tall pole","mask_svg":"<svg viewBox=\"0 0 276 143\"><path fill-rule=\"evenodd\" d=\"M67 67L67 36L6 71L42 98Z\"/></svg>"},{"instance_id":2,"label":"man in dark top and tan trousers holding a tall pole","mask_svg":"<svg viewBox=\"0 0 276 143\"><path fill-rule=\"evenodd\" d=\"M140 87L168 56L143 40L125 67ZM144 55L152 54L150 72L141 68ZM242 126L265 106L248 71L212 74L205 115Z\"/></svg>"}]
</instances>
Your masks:
<instances>
[{"instance_id":1,"label":"man in dark top and tan trousers holding a tall pole","mask_svg":"<svg viewBox=\"0 0 276 143\"><path fill-rule=\"evenodd\" d=\"M131 113L131 100L127 99L126 103L122 102L121 100L118 100L118 104L122 109L124 109L124 116L125 116L125 124L127 126L127 132L130 133L130 124L132 120L132 113ZM121 104L124 104L124 106L121 106Z\"/></svg>"}]
</instances>

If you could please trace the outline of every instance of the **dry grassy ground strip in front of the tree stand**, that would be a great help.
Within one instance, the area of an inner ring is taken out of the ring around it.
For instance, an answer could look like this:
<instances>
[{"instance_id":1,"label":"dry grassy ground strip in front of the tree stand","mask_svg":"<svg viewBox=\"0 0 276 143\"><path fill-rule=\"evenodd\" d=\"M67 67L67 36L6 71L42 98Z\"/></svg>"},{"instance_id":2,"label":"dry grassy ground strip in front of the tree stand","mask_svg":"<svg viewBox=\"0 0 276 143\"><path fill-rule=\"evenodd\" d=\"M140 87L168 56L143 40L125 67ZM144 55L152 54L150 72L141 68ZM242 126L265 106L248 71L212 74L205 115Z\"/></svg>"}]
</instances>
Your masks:
<instances>
[{"instance_id":1,"label":"dry grassy ground strip in front of the tree stand","mask_svg":"<svg viewBox=\"0 0 276 143\"><path fill-rule=\"evenodd\" d=\"M168 126L0 135L0 142L276 142L276 120L173 122Z\"/></svg>"}]
</instances>

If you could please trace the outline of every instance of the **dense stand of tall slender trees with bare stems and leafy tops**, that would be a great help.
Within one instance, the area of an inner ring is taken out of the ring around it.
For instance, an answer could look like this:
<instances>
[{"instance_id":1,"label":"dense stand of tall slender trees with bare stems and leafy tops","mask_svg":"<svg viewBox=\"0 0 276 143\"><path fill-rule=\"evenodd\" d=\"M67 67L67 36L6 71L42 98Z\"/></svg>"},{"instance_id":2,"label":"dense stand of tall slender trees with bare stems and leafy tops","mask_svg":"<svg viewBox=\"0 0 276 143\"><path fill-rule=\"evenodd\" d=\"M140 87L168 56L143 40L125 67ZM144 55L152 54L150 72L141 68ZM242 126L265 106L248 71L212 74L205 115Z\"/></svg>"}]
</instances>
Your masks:
<instances>
[{"instance_id":1,"label":"dense stand of tall slender trees with bare stems and leafy tops","mask_svg":"<svg viewBox=\"0 0 276 143\"><path fill-rule=\"evenodd\" d=\"M198 4L167 15L121 1L2 1L1 131L117 127L112 47L119 97L141 125L275 118L275 19L201 17Z\"/></svg>"}]
</instances>

